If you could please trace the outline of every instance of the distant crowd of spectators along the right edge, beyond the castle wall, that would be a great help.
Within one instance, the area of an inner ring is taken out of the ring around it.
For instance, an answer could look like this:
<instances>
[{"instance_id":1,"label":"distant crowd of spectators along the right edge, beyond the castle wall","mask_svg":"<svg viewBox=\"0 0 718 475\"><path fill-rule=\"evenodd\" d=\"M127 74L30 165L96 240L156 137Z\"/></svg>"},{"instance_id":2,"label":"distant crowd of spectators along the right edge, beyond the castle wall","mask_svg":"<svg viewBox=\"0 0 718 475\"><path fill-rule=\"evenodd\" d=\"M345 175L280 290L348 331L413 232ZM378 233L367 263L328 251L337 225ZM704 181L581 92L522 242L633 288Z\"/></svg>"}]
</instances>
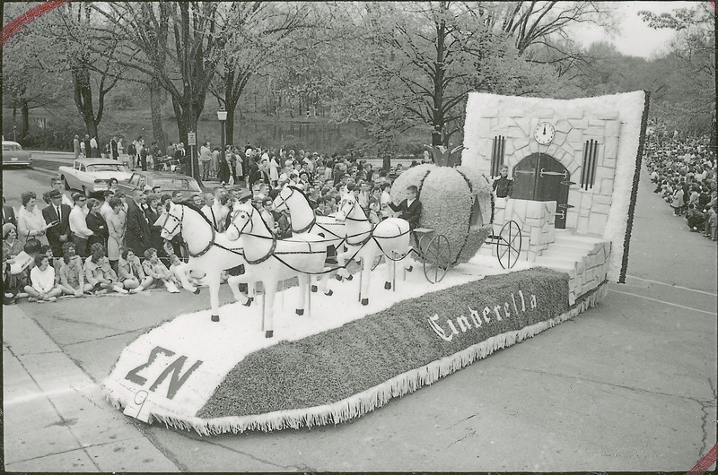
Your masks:
<instances>
[{"instance_id":1,"label":"distant crowd of spectators along the right edge, beyond the castle wall","mask_svg":"<svg viewBox=\"0 0 718 475\"><path fill-rule=\"evenodd\" d=\"M685 217L687 229L716 240L716 156L708 136L684 137L653 128L644 157L655 184L653 193Z\"/></svg>"}]
</instances>

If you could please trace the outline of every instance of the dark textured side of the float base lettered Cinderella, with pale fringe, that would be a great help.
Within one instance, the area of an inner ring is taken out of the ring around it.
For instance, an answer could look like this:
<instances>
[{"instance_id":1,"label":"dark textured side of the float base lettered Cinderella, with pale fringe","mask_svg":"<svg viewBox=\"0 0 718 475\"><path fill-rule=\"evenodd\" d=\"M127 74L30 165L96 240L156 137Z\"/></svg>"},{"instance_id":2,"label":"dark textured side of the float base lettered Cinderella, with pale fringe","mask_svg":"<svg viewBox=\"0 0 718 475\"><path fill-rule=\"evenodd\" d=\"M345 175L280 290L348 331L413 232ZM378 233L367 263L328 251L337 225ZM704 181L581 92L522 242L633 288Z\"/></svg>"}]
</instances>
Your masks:
<instances>
[{"instance_id":1,"label":"dark textured side of the float base lettered Cinderella, with pale fringe","mask_svg":"<svg viewBox=\"0 0 718 475\"><path fill-rule=\"evenodd\" d=\"M567 277L546 269L470 282L258 350L232 369L197 417L153 417L203 435L337 424L572 318L605 293L604 283L569 307ZM467 317L463 328L460 315Z\"/></svg>"}]
</instances>

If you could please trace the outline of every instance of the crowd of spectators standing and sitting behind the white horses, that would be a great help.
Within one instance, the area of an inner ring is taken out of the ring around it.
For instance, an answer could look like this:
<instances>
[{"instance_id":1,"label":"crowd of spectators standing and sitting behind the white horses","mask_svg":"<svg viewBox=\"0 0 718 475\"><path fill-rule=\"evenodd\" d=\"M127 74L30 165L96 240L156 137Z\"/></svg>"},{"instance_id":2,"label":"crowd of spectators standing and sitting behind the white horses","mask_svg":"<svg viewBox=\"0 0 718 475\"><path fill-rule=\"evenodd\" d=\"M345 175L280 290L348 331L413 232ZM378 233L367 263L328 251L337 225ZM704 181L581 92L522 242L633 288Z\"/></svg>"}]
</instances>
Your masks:
<instances>
[{"instance_id":1,"label":"crowd of spectators standing and sitting behind the white horses","mask_svg":"<svg viewBox=\"0 0 718 475\"><path fill-rule=\"evenodd\" d=\"M16 298L41 303L60 296L129 295L153 288L179 292L188 253L180 236L162 239L161 218L169 201L194 204L223 232L233 203L251 200L276 238L292 234L287 212L276 212L272 206L286 184L300 187L317 215L337 212L344 193L356 195L373 223L401 212L390 203L390 186L403 171L401 164L385 170L365 160L316 152L275 153L251 146L234 151L237 148L230 146L224 157L216 154L216 167L211 160L206 165L206 178L219 185L204 194L165 194L144 186L127 195L110 183L100 200L68 195L62 182L52 178L42 202L38 194L27 191L16 211L3 197L4 303ZM424 161L431 161L428 153ZM202 276L184 277L202 283Z\"/></svg>"}]
</instances>

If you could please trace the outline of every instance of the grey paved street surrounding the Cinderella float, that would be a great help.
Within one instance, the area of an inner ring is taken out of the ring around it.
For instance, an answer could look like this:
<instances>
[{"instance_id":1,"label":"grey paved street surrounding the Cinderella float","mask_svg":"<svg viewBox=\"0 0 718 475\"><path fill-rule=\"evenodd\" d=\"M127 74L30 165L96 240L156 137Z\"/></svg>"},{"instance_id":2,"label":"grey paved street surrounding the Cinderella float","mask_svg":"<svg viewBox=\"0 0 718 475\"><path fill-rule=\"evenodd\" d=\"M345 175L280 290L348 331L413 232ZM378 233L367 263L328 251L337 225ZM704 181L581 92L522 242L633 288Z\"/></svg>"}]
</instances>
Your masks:
<instances>
[{"instance_id":1,"label":"grey paved street surrounding the Cinderella float","mask_svg":"<svg viewBox=\"0 0 718 475\"><path fill-rule=\"evenodd\" d=\"M4 194L48 177L4 169ZM644 174L629 278L600 307L359 419L274 433L146 425L101 395L130 341L205 293L4 307L4 469L687 471L716 442L717 257Z\"/></svg>"}]
</instances>

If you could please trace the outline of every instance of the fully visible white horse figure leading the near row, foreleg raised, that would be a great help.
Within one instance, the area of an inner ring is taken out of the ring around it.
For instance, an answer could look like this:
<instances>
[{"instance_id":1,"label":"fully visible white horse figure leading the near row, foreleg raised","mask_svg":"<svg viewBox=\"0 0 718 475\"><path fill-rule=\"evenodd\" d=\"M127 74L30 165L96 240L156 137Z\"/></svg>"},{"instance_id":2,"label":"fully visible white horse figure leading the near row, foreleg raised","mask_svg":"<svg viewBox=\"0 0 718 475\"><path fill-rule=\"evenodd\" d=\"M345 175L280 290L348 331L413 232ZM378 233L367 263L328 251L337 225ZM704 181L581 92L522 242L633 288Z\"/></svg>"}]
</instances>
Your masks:
<instances>
[{"instance_id":1,"label":"fully visible white horse figure leading the near row, foreleg raised","mask_svg":"<svg viewBox=\"0 0 718 475\"><path fill-rule=\"evenodd\" d=\"M250 203L234 206L232 224L227 235L237 233L241 247L244 249L246 272L232 276L230 284L235 297L239 294L241 282L262 282L265 289L265 331L267 338L273 332L274 301L276 285L279 281L299 278L300 301L296 309L297 315L304 314L304 302L309 289L310 274L321 274L321 289L325 295L332 292L327 289L328 273L324 268L327 258L327 244L320 236L303 234L288 239L276 239L267 223ZM232 236L233 237L233 236Z\"/></svg>"}]
</instances>

